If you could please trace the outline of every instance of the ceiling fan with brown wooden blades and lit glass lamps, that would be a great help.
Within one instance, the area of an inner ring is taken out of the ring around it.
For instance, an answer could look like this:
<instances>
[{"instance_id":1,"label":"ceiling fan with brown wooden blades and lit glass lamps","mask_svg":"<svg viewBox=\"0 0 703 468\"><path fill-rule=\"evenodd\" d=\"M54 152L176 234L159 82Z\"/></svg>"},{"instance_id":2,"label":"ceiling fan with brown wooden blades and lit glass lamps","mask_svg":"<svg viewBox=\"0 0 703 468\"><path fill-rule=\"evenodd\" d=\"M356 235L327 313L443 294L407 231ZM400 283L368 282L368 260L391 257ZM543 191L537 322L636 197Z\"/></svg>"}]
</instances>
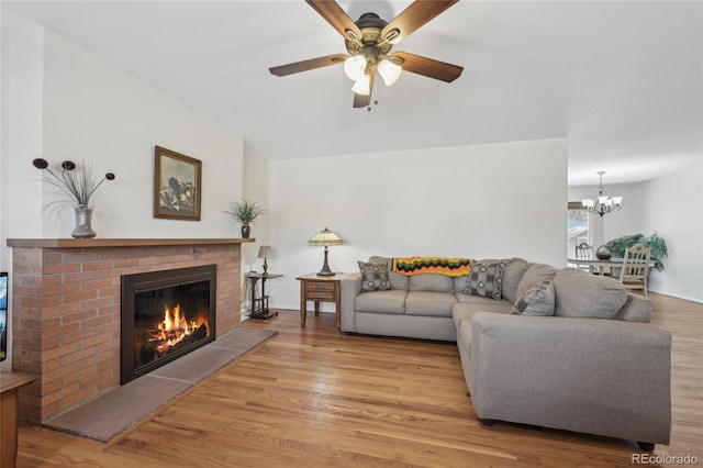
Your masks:
<instances>
[{"instance_id":1,"label":"ceiling fan with brown wooden blades and lit glass lamps","mask_svg":"<svg viewBox=\"0 0 703 468\"><path fill-rule=\"evenodd\" d=\"M334 0L305 1L342 34L349 55L333 54L271 67L269 71L272 75L282 77L330 65L344 64L345 74L355 81L352 88L352 91L354 91L354 107L365 108L371 102L371 91L373 90L377 73L381 76L386 86L391 86L402 70L446 82L454 81L464 71L464 67L406 52L399 51L390 54L393 45L417 31L459 0L415 0L390 23L380 19L376 13L364 13L358 21L352 21Z\"/></svg>"}]
</instances>

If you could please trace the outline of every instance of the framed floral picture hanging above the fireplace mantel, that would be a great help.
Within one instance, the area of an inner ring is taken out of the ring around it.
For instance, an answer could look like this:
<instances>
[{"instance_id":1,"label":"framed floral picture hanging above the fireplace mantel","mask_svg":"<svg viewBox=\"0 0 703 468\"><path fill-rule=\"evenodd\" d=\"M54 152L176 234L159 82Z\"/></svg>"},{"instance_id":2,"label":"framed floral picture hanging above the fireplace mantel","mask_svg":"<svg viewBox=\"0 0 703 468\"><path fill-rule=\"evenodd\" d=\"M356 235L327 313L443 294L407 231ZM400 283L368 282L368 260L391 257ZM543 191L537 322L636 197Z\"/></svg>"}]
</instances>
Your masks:
<instances>
[{"instance_id":1,"label":"framed floral picture hanging above the fireplace mantel","mask_svg":"<svg viewBox=\"0 0 703 468\"><path fill-rule=\"evenodd\" d=\"M200 221L202 161L156 146L154 218Z\"/></svg>"}]
</instances>

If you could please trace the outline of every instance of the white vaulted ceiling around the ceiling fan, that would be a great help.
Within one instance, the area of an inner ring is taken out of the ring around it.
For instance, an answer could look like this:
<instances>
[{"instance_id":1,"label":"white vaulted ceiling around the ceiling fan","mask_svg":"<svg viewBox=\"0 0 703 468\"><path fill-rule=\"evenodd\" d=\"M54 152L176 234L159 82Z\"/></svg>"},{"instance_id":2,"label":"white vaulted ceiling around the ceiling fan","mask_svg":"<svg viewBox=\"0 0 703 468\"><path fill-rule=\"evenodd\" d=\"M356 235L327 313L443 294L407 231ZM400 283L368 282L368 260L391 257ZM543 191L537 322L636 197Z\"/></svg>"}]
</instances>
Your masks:
<instances>
[{"instance_id":1,"label":"white vaulted ceiling around the ceiling fan","mask_svg":"<svg viewBox=\"0 0 703 468\"><path fill-rule=\"evenodd\" d=\"M339 1L390 21L409 1ZM462 0L397 45L462 66L405 73L352 108L346 53L301 1L2 1L3 32L45 24L213 120L268 159L569 137L569 185L646 180L700 164L703 3Z\"/></svg>"}]
</instances>

